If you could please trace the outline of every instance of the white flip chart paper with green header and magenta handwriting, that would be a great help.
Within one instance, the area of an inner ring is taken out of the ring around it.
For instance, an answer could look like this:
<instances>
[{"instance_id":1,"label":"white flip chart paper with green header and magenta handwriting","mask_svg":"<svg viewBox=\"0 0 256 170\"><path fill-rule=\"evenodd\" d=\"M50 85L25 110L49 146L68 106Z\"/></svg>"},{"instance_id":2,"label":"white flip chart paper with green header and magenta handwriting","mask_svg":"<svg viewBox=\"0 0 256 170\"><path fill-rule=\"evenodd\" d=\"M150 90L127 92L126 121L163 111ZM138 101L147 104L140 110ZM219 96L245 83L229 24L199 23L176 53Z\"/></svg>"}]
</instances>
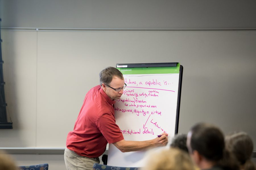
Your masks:
<instances>
[{"instance_id":1,"label":"white flip chart paper with green header and magenta handwriting","mask_svg":"<svg viewBox=\"0 0 256 170\"><path fill-rule=\"evenodd\" d=\"M169 139L175 135L179 64L175 68L168 74L158 74L161 69L167 68L119 69L127 86L122 97L116 101L114 110L116 124L126 141L150 140L163 132L168 133ZM108 165L142 167L148 152L150 150L122 153L110 144Z\"/></svg>"}]
</instances>

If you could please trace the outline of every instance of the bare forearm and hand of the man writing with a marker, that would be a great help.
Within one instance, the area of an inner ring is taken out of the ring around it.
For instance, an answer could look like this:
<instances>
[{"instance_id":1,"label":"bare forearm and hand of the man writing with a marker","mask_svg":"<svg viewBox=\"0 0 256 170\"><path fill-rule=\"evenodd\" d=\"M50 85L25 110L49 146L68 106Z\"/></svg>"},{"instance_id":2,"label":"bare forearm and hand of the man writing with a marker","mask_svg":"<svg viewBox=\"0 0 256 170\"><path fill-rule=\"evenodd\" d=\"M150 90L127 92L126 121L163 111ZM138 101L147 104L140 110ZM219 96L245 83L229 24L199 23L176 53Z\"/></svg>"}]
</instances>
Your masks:
<instances>
[{"instance_id":1,"label":"bare forearm and hand of the man writing with a marker","mask_svg":"<svg viewBox=\"0 0 256 170\"><path fill-rule=\"evenodd\" d=\"M148 141L125 141L124 139L113 143L121 152L131 152L144 150L148 148L154 148L157 146L165 146L168 143L168 138L166 133L162 133L161 137L156 137L155 139Z\"/></svg>"}]
</instances>

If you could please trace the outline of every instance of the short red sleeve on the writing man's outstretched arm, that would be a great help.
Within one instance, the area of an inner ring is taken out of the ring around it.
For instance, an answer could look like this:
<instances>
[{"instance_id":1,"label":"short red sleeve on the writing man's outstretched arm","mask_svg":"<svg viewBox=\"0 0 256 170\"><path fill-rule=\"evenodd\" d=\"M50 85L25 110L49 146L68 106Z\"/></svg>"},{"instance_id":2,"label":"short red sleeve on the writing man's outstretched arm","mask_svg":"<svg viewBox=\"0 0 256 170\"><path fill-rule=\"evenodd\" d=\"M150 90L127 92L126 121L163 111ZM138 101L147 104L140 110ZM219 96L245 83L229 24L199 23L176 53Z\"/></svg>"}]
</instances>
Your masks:
<instances>
[{"instance_id":1,"label":"short red sleeve on the writing man's outstretched arm","mask_svg":"<svg viewBox=\"0 0 256 170\"><path fill-rule=\"evenodd\" d=\"M115 143L124 139L123 134L119 126L115 123L115 118L112 114L102 114L102 116L98 118L96 125L108 143Z\"/></svg>"}]
</instances>

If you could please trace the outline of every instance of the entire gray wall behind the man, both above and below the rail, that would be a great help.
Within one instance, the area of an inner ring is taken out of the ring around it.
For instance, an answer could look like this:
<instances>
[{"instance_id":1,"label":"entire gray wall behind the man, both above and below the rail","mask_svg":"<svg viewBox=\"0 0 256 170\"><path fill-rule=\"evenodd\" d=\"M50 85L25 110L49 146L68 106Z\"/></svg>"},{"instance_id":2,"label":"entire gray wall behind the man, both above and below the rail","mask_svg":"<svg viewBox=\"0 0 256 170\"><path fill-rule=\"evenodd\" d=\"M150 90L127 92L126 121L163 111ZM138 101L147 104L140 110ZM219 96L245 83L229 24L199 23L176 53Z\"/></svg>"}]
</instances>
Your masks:
<instances>
[{"instance_id":1,"label":"entire gray wall behind the man, both above and below the rail","mask_svg":"<svg viewBox=\"0 0 256 170\"><path fill-rule=\"evenodd\" d=\"M225 134L246 131L256 146L256 1L0 3L14 127L0 130L1 147L65 147L98 73L116 63L144 62L184 67L179 133L210 122ZM42 160L14 156L19 163ZM57 164L63 169L63 161Z\"/></svg>"}]
</instances>

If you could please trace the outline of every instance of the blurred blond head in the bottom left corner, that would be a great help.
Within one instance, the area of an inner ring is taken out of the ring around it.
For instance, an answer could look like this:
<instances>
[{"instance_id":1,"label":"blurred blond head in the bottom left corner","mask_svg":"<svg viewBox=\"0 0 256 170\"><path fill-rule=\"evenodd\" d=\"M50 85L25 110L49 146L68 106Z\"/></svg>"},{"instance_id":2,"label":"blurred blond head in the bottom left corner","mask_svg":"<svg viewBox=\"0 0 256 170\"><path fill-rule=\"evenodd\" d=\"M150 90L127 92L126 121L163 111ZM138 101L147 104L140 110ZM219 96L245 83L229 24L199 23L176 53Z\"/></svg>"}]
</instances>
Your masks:
<instances>
[{"instance_id":1,"label":"blurred blond head in the bottom left corner","mask_svg":"<svg viewBox=\"0 0 256 170\"><path fill-rule=\"evenodd\" d=\"M0 169L4 170L17 170L18 167L16 166L13 159L6 154L5 152L0 152Z\"/></svg>"}]
</instances>

